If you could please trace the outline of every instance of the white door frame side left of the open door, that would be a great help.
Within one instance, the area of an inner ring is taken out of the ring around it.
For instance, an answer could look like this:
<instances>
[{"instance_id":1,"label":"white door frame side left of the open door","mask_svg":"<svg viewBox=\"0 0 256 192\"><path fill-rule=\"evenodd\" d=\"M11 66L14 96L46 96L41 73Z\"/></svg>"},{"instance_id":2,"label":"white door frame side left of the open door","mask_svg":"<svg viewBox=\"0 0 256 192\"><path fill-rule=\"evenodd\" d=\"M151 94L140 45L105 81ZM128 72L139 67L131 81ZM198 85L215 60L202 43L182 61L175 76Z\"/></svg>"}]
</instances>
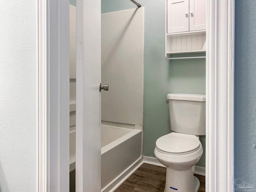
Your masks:
<instances>
[{"instance_id":1,"label":"white door frame side left of the open door","mask_svg":"<svg viewBox=\"0 0 256 192\"><path fill-rule=\"evenodd\" d=\"M36 191L69 192L69 0L36 0Z\"/></svg>"}]
</instances>

